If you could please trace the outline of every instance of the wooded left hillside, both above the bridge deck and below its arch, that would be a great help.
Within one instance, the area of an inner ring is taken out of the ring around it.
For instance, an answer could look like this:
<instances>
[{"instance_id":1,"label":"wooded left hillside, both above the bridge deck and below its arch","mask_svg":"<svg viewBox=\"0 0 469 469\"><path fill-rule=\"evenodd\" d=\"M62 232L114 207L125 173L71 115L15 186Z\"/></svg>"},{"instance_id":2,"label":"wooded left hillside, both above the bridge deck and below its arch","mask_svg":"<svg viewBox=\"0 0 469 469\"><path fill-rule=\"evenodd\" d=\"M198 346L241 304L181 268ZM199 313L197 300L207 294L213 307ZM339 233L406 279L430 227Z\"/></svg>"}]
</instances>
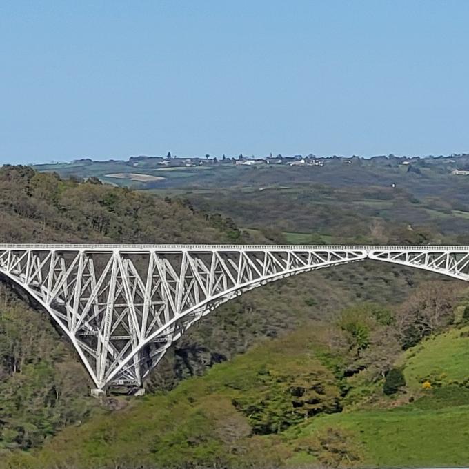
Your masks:
<instances>
[{"instance_id":1,"label":"wooded left hillside, both above the bridge deck and below its arch","mask_svg":"<svg viewBox=\"0 0 469 469\"><path fill-rule=\"evenodd\" d=\"M56 174L0 170L0 242L243 242L221 217L127 189L63 181ZM58 428L83 421L97 402L72 348L21 292L0 290L0 451L41 445ZM105 406L115 406L110 399Z\"/></svg>"}]
</instances>

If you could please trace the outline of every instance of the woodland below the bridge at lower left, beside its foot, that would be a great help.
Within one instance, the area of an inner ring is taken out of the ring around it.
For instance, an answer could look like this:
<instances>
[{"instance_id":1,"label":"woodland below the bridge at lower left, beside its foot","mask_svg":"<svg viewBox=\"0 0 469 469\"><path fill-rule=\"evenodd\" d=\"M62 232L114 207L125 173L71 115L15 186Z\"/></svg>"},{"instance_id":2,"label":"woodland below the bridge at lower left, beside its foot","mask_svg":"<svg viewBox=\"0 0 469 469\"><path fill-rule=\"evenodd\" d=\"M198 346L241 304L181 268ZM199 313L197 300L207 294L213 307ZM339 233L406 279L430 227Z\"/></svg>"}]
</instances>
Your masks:
<instances>
[{"instance_id":1,"label":"woodland below the bridge at lower left, beside its foot","mask_svg":"<svg viewBox=\"0 0 469 469\"><path fill-rule=\"evenodd\" d=\"M57 331L0 287L0 452L39 446L96 403L79 363L67 363Z\"/></svg>"}]
</instances>

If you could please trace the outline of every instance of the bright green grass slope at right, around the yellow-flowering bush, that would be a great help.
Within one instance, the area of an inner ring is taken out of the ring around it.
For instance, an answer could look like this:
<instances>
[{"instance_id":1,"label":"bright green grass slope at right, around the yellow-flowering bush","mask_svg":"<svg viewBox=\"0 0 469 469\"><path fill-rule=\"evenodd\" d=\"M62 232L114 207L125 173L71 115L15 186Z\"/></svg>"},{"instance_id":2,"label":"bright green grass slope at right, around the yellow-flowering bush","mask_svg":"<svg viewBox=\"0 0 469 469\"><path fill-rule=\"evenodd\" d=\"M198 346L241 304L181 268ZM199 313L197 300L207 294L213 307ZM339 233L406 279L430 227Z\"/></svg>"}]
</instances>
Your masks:
<instances>
[{"instance_id":1,"label":"bright green grass slope at right, around the yellow-flowering bush","mask_svg":"<svg viewBox=\"0 0 469 469\"><path fill-rule=\"evenodd\" d=\"M379 406L321 416L292 440L335 430L352 435L365 466L448 467L469 463L469 328L430 337L397 359L407 387ZM424 389L422 383L432 388ZM411 401L410 403L407 403Z\"/></svg>"}]
</instances>

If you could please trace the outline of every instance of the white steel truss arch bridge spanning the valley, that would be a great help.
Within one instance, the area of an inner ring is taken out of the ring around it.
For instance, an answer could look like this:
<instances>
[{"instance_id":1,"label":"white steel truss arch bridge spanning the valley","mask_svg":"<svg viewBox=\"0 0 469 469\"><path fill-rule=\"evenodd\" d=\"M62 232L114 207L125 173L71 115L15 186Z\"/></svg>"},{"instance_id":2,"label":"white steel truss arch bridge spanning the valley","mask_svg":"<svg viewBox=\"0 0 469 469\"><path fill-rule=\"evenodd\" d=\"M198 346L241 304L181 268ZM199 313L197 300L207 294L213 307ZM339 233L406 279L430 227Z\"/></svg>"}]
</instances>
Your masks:
<instances>
[{"instance_id":1,"label":"white steel truss arch bridge spanning the valley","mask_svg":"<svg viewBox=\"0 0 469 469\"><path fill-rule=\"evenodd\" d=\"M363 259L469 280L469 246L0 245L0 273L72 341L92 380L141 386L195 321L270 281Z\"/></svg>"}]
</instances>

